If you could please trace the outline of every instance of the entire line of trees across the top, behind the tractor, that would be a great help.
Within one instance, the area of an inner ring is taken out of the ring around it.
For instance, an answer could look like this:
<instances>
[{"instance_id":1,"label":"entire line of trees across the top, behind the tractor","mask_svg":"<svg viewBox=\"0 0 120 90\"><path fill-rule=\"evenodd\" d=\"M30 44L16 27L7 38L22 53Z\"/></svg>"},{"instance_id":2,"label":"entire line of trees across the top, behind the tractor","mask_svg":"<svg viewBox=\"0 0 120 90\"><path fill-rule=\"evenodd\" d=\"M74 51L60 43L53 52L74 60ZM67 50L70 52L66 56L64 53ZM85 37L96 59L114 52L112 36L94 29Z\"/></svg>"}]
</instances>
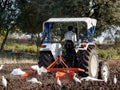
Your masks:
<instances>
[{"instance_id":1,"label":"entire line of trees across the top, behind the tractor","mask_svg":"<svg viewBox=\"0 0 120 90\"><path fill-rule=\"evenodd\" d=\"M91 17L97 19L95 36L112 26L120 26L119 0L0 0L0 50L9 33L42 32L42 23L51 17Z\"/></svg>"}]
</instances>

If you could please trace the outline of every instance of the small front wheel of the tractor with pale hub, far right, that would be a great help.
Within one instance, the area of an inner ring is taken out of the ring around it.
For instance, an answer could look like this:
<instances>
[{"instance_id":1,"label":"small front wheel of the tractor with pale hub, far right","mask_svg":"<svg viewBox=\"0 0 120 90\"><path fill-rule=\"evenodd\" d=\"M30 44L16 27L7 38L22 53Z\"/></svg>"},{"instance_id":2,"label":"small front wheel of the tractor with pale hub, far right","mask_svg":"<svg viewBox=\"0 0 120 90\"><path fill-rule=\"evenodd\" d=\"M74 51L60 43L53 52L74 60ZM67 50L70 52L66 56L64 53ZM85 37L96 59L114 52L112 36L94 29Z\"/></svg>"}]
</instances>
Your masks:
<instances>
[{"instance_id":1,"label":"small front wheel of the tractor with pale hub, far right","mask_svg":"<svg viewBox=\"0 0 120 90\"><path fill-rule=\"evenodd\" d=\"M107 62L100 62L99 63L99 73L98 78L104 81L107 81L110 75L109 65Z\"/></svg>"}]
</instances>

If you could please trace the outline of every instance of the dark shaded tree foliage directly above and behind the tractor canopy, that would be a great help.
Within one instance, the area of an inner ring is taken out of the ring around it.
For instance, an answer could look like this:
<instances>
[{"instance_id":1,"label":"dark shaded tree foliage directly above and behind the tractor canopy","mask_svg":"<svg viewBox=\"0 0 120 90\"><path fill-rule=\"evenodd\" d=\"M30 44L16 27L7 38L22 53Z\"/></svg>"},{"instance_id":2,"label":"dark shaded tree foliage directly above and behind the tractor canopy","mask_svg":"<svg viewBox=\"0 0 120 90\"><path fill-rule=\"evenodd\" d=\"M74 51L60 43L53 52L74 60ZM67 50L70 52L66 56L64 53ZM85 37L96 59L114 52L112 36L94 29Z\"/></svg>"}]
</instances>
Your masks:
<instances>
[{"instance_id":1,"label":"dark shaded tree foliage directly above and behind the tractor canopy","mask_svg":"<svg viewBox=\"0 0 120 90\"><path fill-rule=\"evenodd\" d=\"M40 33L42 23L50 17L78 17L88 15L85 8L89 4L79 0L20 0L21 15L18 19L18 27L27 33ZM81 12L81 8L86 12ZM88 8L88 6L87 6Z\"/></svg>"}]
</instances>

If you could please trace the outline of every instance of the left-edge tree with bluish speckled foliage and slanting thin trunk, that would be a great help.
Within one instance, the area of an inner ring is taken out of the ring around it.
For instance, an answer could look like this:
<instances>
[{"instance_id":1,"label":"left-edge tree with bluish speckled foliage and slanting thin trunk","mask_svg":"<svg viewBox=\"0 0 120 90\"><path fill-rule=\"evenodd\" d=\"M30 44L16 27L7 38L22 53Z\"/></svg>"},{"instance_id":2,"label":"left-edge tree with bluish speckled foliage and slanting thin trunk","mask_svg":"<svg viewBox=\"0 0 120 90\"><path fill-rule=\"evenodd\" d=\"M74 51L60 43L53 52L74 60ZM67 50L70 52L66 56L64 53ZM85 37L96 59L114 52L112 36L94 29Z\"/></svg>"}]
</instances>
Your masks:
<instances>
[{"instance_id":1,"label":"left-edge tree with bluish speckled foliage and slanting thin trunk","mask_svg":"<svg viewBox=\"0 0 120 90\"><path fill-rule=\"evenodd\" d=\"M17 2L13 0L0 1L0 31L5 31L5 37L2 41L0 51L4 49L9 32L13 32L16 26L16 19L19 9L16 8Z\"/></svg>"}]
</instances>

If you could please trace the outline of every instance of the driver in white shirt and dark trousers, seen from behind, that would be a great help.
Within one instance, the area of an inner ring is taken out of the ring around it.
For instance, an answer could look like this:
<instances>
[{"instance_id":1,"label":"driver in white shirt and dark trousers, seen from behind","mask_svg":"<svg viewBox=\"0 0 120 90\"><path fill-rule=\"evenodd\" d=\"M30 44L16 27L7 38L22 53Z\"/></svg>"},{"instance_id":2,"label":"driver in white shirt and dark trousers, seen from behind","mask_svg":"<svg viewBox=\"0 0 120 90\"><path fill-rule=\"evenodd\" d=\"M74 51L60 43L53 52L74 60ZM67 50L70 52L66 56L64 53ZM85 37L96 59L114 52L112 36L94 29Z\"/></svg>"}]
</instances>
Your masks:
<instances>
[{"instance_id":1,"label":"driver in white shirt and dark trousers, seen from behind","mask_svg":"<svg viewBox=\"0 0 120 90\"><path fill-rule=\"evenodd\" d=\"M70 67L75 67L77 61L75 43L77 41L76 33L73 32L73 26L68 26L68 31L64 35L67 63Z\"/></svg>"}]
</instances>

